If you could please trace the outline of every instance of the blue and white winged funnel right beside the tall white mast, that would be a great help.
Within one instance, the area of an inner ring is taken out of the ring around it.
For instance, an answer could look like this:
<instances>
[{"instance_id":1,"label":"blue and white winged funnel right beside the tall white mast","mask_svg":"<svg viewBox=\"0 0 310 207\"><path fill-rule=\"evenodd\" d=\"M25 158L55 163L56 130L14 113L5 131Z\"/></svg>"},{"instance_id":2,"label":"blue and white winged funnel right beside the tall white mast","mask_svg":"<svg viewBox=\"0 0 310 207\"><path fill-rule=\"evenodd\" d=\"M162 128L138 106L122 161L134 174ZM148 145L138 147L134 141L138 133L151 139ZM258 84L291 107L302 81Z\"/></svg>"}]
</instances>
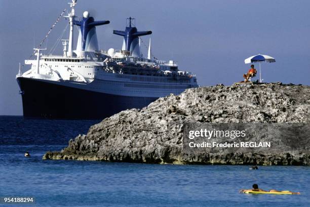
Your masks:
<instances>
[{"instance_id":1,"label":"blue and white winged funnel right beside the tall white mast","mask_svg":"<svg viewBox=\"0 0 310 207\"><path fill-rule=\"evenodd\" d=\"M96 26L109 23L110 21L95 21L93 17L89 16L89 12L87 11L83 13L81 21L74 20L73 24L80 26L76 51L95 52L96 50L99 50Z\"/></svg>"}]
</instances>

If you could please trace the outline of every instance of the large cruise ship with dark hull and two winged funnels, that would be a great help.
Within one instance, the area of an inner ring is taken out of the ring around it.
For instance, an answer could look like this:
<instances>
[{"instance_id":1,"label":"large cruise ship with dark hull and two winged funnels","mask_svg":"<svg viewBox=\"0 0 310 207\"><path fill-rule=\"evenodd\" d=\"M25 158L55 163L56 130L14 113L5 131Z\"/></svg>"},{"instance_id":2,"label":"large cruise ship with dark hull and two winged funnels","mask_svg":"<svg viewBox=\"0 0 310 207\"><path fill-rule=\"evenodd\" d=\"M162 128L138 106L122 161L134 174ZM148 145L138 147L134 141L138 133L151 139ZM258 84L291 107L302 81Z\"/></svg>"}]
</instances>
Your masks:
<instances>
[{"instance_id":1,"label":"large cruise ship with dark hull and two winged funnels","mask_svg":"<svg viewBox=\"0 0 310 207\"><path fill-rule=\"evenodd\" d=\"M122 49L99 50L96 27L110 22L95 21L87 11L80 18L75 16L76 4L72 0L64 16L69 21L69 38L61 40L63 54L43 55L40 44L34 48L36 58L25 60L29 70L22 73L20 67L16 80L25 118L104 119L198 87L196 76L179 70L177 62L154 58L150 39L147 57L142 56L140 37L152 32L138 31L131 17L124 31L113 30L123 39ZM79 28L75 50L74 27Z\"/></svg>"}]
</instances>

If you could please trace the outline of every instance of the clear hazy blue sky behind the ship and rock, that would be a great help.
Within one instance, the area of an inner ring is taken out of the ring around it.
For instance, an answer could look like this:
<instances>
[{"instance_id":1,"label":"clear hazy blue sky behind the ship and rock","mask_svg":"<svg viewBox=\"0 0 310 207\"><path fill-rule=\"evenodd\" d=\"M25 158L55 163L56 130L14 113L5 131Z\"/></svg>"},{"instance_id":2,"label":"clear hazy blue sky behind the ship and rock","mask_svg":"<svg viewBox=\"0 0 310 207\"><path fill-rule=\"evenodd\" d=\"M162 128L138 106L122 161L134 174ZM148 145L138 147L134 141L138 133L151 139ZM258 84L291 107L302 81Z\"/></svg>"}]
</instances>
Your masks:
<instances>
[{"instance_id":1,"label":"clear hazy blue sky behind the ship and rock","mask_svg":"<svg viewBox=\"0 0 310 207\"><path fill-rule=\"evenodd\" d=\"M69 9L68 2L0 0L0 115L22 115L15 79L18 64ZM261 64L264 82L310 85L309 8L307 0L78 0L75 14L89 11L95 20L110 21L97 28L99 48L106 50L121 49L122 37L112 31L124 30L129 16L136 18L138 30L152 31L142 37L144 56L151 38L155 57L176 60L180 70L197 75L200 86L242 81L250 66L244 59L256 54L276 58ZM49 54L67 23L61 18L54 27L42 46L47 47L44 53ZM62 39L68 39L68 29ZM62 54L61 44L53 54ZM22 72L28 69L23 67Z\"/></svg>"}]
</instances>

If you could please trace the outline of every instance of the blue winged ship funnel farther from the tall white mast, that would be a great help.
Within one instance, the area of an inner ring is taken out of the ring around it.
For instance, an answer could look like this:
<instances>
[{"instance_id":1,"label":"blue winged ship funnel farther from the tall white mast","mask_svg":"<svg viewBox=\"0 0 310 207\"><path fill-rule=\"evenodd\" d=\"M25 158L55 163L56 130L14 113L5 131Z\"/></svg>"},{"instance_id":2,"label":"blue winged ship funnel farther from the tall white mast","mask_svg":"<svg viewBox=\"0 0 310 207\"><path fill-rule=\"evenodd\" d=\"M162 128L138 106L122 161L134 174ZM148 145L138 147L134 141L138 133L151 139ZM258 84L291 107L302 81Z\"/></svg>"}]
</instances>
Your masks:
<instances>
[{"instance_id":1,"label":"blue winged ship funnel farther from the tall white mast","mask_svg":"<svg viewBox=\"0 0 310 207\"><path fill-rule=\"evenodd\" d=\"M138 31L136 27L131 26L131 21L134 18L129 17L129 26L125 31L113 30L114 34L124 37L123 50L132 52L132 56L140 57L139 36L145 36L151 34L152 31Z\"/></svg>"}]
</instances>

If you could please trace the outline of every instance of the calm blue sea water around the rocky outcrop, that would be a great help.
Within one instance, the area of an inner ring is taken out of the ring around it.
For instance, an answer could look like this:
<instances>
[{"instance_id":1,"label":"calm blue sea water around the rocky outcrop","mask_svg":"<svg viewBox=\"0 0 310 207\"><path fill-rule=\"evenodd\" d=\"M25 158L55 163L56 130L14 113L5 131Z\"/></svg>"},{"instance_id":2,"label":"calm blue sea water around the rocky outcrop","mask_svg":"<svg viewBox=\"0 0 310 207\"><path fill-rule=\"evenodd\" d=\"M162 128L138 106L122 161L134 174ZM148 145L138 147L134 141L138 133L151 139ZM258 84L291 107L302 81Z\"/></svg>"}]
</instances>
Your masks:
<instances>
[{"instance_id":1,"label":"calm blue sea water around the rocky outcrop","mask_svg":"<svg viewBox=\"0 0 310 207\"><path fill-rule=\"evenodd\" d=\"M309 167L42 160L97 122L0 116L0 197L35 199L17 206L310 206ZM239 193L253 183L301 195Z\"/></svg>"}]
</instances>

